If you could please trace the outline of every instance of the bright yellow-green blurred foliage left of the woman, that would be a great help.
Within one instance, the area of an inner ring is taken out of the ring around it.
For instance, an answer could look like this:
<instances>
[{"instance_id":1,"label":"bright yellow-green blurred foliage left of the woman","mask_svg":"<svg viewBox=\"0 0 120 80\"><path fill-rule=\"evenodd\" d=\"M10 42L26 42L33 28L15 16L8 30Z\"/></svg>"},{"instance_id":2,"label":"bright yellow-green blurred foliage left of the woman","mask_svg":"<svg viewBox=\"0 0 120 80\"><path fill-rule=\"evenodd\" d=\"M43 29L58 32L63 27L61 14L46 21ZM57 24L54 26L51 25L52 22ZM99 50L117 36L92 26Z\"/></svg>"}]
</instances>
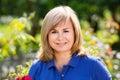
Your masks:
<instances>
[{"instance_id":1,"label":"bright yellow-green blurred foliage left of the woman","mask_svg":"<svg viewBox=\"0 0 120 80\"><path fill-rule=\"evenodd\" d=\"M31 53L38 49L35 38L27 33L31 30L32 17L33 13L29 17L15 18L0 31L0 61L10 55Z\"/></svg>"}]
</instances>

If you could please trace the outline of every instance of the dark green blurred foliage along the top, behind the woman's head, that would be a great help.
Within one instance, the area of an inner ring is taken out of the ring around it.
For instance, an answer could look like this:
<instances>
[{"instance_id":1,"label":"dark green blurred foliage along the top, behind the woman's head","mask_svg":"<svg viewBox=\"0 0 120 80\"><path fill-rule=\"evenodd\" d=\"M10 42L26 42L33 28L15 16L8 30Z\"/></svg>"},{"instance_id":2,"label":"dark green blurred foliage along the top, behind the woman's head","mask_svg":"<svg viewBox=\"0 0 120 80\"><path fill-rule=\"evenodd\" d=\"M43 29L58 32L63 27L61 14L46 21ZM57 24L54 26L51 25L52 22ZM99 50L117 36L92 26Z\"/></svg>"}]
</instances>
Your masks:
<instances>
[{"instance_id":1,"label":"dark green blurred foliage along the top, behind the woman's head","mask_svg":"<svg viewBox=\"0 0 120 80\"><path fill-rule=\"evenodd\" d=\"M11 4L11 5L9 5ZM1 0L0 12L2 15L21 16L23 12L35 11L39 17L44 15L53 7L58 5L69 5L75 9L79 18L88 19L93 14L102 14L104 9L109 8L113 13L119 11L119 0ZM44 9L43 9L44 8Z\"/></svg>"}]
</instances>

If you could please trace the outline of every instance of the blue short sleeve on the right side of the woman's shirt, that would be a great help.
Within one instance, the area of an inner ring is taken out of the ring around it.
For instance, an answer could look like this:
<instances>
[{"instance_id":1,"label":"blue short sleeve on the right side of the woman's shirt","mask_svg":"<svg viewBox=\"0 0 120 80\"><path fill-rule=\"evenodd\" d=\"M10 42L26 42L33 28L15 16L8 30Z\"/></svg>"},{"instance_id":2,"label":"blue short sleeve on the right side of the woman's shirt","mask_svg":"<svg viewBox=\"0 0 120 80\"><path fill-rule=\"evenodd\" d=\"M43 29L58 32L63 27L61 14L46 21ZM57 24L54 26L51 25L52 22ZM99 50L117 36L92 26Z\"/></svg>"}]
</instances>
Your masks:
<instances>
[{"instance_id":1,"label":"blue short sleeve on the right side of the woman's shirt","mask_svg":"<svg viewBox=\"0 0 120 80\"><path fill-rule=\"evenodd\" d=\"M93 64L93 69L95 80L112 80L110 72L100 58L97 58L95 60Z\"/></svg>"}]
</instances>

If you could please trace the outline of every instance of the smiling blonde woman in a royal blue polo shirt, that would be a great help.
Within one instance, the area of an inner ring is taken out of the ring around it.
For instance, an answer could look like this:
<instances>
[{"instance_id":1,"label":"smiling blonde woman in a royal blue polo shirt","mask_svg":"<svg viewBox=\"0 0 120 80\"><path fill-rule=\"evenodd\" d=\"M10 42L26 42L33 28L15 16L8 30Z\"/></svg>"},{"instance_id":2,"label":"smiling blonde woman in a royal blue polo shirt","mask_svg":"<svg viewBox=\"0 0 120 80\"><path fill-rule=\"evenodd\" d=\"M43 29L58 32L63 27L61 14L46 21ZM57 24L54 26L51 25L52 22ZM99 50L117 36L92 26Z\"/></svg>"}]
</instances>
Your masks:
<instances>
[{"instance_id":1,"label":"smiling blonde woman in a royal blue polo shirt","mask_svg":"<svg viewBox=\"0 0 120 80\"><path fill-rule=\"evenodd\" d=\"M39 54L29 70L32 80L111 80L105 64L83 50L79 20L68 6L45 16Z\"/></svg>"}]
</instances>

